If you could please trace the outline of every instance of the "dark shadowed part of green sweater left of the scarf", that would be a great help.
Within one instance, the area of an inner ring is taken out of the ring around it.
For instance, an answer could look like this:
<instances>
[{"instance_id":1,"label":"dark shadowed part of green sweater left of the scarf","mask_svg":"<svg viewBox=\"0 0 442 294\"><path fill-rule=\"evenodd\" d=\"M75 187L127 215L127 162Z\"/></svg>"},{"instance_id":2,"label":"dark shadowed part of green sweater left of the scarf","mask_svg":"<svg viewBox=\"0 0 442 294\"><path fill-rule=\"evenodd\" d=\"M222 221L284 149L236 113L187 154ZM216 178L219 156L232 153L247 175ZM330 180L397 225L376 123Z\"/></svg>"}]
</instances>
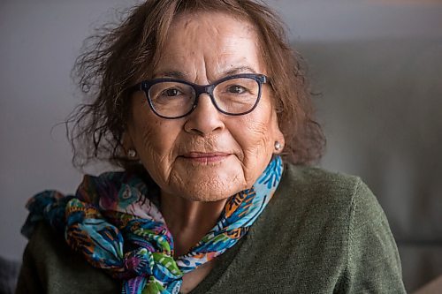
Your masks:
<instances>
[{"instance_id":1,"label":"dark shadowed part of green sweater left of the scarf","mask_svg":"<svg viewBox=\"0 0 442 294\"><path fill-rule=\"evenodd\" d=\"M35 289L46 293L108 293L119 288L117 281L74 253L49 225L38 223L23 255L17 293L33 293Z\"/></svg>"}]
</instances>

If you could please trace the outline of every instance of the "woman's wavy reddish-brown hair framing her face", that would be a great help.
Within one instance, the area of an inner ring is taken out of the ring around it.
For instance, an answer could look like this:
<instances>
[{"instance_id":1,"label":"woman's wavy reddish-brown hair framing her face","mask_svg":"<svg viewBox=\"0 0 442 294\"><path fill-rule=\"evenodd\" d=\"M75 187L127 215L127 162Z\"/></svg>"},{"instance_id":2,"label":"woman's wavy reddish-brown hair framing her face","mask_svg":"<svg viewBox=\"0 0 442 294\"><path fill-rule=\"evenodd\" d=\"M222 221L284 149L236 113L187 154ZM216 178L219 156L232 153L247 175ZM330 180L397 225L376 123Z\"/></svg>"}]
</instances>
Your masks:
<instances>
[{"instance_id":1,"label":"woman's wavy reddish-brown hair framing her face","mask_svg":"<svg viewBox=\"0 0 442 294\"><path fill-rule=\"evenodd\" d=\"M74 166L82 168L93 160L125 169L136 164L126 158L122 145L130 116L126 89L149 79L171 21L200 11L224 12L255 26L286 139L283 158L310 164L322 156L325 139L314 118L303 59L291 48L283 22L270 7L253 0L148 0L126 11L117 26L105 26L89 37L75 62L73 77L89 102L74 109L66 122Z\"/></svg>"}]
</instances>

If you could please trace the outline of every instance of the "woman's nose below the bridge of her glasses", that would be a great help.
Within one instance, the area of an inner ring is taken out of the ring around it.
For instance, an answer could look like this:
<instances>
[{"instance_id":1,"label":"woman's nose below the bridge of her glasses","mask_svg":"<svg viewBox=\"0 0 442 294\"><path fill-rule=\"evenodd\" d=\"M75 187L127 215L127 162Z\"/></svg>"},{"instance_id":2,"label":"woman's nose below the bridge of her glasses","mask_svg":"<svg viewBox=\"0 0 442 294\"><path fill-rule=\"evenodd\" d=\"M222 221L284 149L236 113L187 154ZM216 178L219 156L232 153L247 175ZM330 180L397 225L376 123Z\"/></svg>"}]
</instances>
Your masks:
<instances>
[{"instance_id":1,"label":"woman's nose below the bridge of her glasses","mask_svg":"<svg viewBox=\"0 0 442 294\"><path fill-rule=\"evenodd\" d=\"M217 110L209 94L200 94L198 105L186 118L184 130L199 136L207 136L225 128L224 115Z\"/></svg>"}]
</instances>

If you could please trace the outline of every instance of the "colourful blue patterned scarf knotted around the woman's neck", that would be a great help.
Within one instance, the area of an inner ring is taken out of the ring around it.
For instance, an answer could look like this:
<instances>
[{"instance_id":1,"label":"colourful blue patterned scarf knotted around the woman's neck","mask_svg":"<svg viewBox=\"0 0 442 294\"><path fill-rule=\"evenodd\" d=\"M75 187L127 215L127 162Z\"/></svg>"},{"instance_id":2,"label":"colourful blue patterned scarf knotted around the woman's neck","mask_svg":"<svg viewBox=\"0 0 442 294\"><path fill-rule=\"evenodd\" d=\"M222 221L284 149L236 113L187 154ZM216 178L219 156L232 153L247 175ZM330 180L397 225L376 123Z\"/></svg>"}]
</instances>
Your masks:
<instances>
[{"instance_id":1,"label":"colourful blue patterned scarf knotted around the woman's neck","mask_svg":"<svg viewBox=\"0 0 442 294\"><path fill-rule=\"evenodd\" d=\"M75 196L56 191L27 203L22 233L44 220L95 268L123 280L122 293L179 293L182 276L235 245L263 212L278 187L283 164L275 156L255 185L233 195L215 227L173 259L173 239L148 185L132 174L85 176ZM155 198L155 197L154 197Z\"/></svg>"}]
</instances>

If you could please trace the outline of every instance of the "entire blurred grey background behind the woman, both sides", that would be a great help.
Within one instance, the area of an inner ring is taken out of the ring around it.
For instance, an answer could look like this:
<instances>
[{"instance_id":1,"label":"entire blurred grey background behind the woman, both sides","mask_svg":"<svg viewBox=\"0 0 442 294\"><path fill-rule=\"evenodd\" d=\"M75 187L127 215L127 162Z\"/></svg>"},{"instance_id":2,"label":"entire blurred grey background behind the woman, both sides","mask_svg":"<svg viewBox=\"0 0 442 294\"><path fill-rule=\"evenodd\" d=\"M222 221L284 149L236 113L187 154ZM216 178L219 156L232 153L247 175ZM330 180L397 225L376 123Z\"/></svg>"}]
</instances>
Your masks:
<instances>
[{"instance_id":1,"label":"entire blurred grey background behind the woman, both sides","mask_svg":"<svg viewBox=\"0 0 442 294\"><path fill-rule=\"evenodd\" d=\"M309 64L328 139L320 165L375 192L408 290L442 275L442 2L267 2ZM72 65L94 28L134 3L0 0L1 257L21 258L29 197L80 183L60 124L82 99Z\"/></svg>"}]
</instances>

